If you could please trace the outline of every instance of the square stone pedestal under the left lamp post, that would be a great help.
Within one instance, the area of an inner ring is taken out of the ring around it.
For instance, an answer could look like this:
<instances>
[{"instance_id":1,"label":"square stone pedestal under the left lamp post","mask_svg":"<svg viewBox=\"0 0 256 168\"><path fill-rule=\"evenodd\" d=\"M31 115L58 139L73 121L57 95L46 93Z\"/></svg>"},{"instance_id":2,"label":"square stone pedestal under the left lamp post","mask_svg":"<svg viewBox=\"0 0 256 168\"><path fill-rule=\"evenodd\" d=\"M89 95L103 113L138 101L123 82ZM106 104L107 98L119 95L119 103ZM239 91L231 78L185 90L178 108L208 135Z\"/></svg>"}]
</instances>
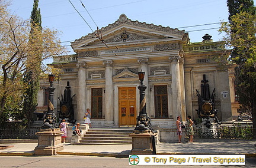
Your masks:
<instances>
[{"instance_id":1,"label":"square stone pedestal under the left lamp post","mask_svg":"<svg viewBox=\"0 0 256 168\"><path fill-rule=\"evenodd\" d=\"M34 149L36 156L50 156L56 155L57 151L63 150L61 143L61 134L63 131L60 129L41 129L36 133L39 136L38 145Z\"/></svg>"}]
</instances>

